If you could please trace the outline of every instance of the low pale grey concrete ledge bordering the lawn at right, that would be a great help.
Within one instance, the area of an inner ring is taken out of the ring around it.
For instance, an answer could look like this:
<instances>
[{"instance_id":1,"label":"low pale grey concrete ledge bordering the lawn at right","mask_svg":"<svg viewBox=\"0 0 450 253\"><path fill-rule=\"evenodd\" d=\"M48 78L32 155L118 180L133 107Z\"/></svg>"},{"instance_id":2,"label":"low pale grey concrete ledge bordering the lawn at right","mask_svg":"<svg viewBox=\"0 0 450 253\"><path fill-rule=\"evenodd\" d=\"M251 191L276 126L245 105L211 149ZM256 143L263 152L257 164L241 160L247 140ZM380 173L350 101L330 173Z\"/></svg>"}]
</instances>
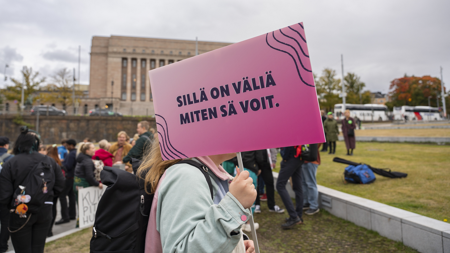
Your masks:
<instances>
[{"instance_id":1,"label":"low pale grey concrete ledge bordering the lawn at right","mask_svg":"<svg viewBox=\"0 0 450 253\"><path fill-rule=\"evenodd\" d=\"M274 182L278 173L272 172ZM290 184L286 188L291 188ZM450 253L450 224L370 199L317 185L320 208L358 226L403 242L421 253ZM292 198L295 194L288 189Z\"/></svg>"}]
</instances>

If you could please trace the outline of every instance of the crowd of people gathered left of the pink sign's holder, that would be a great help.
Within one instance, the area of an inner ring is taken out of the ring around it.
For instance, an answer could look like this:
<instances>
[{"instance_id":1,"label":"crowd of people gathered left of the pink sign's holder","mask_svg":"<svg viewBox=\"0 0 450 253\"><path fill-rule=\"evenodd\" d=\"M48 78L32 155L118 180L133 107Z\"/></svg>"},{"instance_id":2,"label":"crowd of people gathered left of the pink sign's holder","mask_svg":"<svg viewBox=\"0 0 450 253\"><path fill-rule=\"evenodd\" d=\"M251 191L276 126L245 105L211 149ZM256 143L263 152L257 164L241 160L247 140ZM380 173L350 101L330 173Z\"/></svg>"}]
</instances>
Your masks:
<instances>
[{"instance_id":1,"label":"crowd of people gathered left of the pink sign's holder","mask_svg":"<svg viewBox=\"0 0 450 253\"><path fill-rule=\"evenodd\" d=\"M154 138L147 121L139 122L136 131L133 139L120 131L117 142L100 140L96 148L89 138L80 143L63 139L61 145L43 145L39 133L22 127L12 152L8 152L9 138L0 136L0 253L8 251L9 237L17 253L43 252L45 238L53 235L54 225L77 219L78 190L103 188L96 162L101 161L102 167L124 163L126 171L133 173L130 159L141 159ZM30 181L28 175L36 176L40 170L37 176L41 176L43 187L35 193L33 184L23 185ZM39 199L39 194L45 194L44 202L35 210L33 200ZM58 199L61 219L55 221Z\"/></svg>"}]
</instances>

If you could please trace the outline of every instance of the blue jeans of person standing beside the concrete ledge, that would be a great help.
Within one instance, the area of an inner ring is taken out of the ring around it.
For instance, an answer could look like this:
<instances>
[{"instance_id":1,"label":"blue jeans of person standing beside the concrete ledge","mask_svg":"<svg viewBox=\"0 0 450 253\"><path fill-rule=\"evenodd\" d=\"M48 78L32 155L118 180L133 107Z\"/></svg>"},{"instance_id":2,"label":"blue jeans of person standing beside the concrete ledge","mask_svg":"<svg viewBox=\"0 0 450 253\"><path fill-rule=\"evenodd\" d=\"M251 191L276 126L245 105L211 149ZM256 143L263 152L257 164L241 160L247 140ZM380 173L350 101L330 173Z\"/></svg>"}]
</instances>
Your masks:
<instances>
[{"instance_id":1,"label":"blue jeans of person standing beside the concrete ledge","mask_svg":"<svg viewBox=\"0 0 450 253\"><path fill-rule=\"evenodd\" d=\"M319 192L317 191L317 167L319 164L303 163L302 165L302 188L303 188L303 205L309 204L311 209L319 208Z\"/></svg>"}]
</instances>

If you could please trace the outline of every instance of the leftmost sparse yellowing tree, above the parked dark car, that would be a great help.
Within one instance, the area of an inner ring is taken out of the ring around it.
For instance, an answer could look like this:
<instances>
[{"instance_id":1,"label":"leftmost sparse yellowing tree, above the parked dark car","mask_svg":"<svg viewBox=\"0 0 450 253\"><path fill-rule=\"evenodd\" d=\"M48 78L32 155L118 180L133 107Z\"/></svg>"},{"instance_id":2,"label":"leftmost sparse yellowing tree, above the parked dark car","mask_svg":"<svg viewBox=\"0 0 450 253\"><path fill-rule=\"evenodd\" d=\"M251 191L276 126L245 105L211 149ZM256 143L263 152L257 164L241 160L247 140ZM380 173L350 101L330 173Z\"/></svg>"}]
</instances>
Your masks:
<instances>
[{"instance_id":1,"label":"leftmost sparse yellowing tree, above the parked dark car","mask_svg":"<svg viewBox=\"0 0 450 253\"><path fill-rule=\"evenodd\" d=\"M11 78L11 81L13 81L14 86L7 86L6 89L3 90L4 97L8 100L15 100L17 99L20 101L22 98L22 86L24 87L23 93L24 93L24 104L28 104L31 101L34 101L35 93L37 90L39 90L39 86L41 83L45 81L45 77L38 78L39 72L33 72L33 68L28 68L27 66L23 66L22 70L20 71L23 76L23 81L19 81L18 79Z\"/></svg>"}]
</instances>

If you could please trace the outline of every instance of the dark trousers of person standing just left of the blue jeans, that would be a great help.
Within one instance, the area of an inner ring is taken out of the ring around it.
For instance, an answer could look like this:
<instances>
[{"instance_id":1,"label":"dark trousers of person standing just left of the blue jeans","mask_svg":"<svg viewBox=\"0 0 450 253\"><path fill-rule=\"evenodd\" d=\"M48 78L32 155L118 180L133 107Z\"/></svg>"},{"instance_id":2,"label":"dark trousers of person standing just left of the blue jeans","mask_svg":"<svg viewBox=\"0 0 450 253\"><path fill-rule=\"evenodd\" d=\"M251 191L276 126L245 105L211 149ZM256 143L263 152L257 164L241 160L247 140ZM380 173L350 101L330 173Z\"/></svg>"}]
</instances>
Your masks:
<instances>
[{"instance_id":1,"label":"dark trousers of person standing just left of the blue jeans","mask_svg":"<svg viewBox=\"0 0 450 253\"><path fill-rule=\"evenodd\" d=\"M295 157L281 161L276 186L289 216L293 219L297 216L302 217L303 214L302 164L303 161ZM292 177L292 188L295 192L295 208L288 190L286 190L289 177Z\"/></svg>"}]
</instances>

